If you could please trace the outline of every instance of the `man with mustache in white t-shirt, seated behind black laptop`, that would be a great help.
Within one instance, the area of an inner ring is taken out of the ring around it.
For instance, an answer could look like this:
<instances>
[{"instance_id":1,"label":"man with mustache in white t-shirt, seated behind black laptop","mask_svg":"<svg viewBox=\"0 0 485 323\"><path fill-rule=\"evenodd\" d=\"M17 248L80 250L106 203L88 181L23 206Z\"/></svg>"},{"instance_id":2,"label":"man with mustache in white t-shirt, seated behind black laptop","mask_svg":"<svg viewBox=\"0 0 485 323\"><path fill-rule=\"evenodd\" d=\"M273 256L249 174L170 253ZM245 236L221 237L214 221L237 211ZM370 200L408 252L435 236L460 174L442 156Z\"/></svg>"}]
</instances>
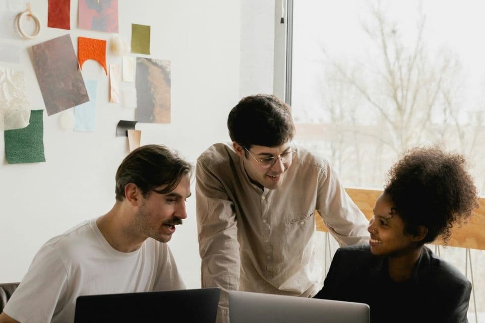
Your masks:
<instances>
[{"instance_id":1,"label":"man with mustache in white t-shirt, seated behind black laptop","mask_svg":"<svg viewBox=\"0 0 485 323\"><path fill-rule=\"evenodd\" d=\"M0 323L73 322L81 295L184 289L167 246L187 217L192 166L161 145L124 158L105 215L49 240L0 314Z\"/></svg>"}]
</instances>

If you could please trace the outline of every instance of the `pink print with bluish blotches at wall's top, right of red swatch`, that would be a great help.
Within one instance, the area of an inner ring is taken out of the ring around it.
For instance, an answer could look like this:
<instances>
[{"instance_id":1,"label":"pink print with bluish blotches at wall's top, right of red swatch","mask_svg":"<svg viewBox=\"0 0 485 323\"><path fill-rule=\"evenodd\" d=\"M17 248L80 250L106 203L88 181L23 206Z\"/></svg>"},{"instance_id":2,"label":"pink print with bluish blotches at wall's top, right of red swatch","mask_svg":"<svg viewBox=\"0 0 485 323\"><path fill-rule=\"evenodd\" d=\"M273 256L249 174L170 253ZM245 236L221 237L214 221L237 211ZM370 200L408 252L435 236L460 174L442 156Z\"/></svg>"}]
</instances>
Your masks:
<instances>
[{"instance_id":1,"label":"pink print with bluish blotches at wall's top, right of red swatch","mask_svg":"<svg viewBox=\"0 0 485 323\"><path fill-rule=\"evenodd\" d=\"M79 28L118 32L118 0L79 0Z\"/></svg>"}]
</instances>

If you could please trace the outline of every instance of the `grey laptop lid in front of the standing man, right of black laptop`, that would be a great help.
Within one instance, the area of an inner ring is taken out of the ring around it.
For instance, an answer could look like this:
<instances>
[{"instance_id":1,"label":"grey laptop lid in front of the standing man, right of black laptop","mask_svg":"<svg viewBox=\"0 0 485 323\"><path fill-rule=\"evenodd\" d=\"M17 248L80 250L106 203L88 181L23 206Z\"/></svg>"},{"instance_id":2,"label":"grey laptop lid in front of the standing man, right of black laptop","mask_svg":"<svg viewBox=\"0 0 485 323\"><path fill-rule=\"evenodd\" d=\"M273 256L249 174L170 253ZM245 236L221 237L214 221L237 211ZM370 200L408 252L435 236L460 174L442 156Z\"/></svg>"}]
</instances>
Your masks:
<instances>
[{"instance_id":1,"label":"grey laptop lid in front of the standing man, right of black laptop","mask_svg":"<svg viewBox=\"0 0 485 323\"><path fill-rule=\"evenodd\" d=\"M229 292L231 323L369 323L367 304L242 291Z\"/></svg>"}]
</instances>

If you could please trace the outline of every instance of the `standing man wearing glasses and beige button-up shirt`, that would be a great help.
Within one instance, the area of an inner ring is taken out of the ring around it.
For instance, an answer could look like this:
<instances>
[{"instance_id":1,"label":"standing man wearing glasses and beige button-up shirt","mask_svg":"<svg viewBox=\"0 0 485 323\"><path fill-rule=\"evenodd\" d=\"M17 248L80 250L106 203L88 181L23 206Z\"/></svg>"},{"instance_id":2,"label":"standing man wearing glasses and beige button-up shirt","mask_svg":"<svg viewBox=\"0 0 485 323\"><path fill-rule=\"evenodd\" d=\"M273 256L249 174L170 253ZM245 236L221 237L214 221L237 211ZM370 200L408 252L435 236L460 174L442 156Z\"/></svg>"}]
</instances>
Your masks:
<instances>
[{"instance_id":1,"label":"standing man wearing glasses and beige button-up shirt","mask_svg":"<svg viewBox=\"0 0 485 323\"><path fill-rule=\"evenodd\" d=\"M197 159L202 287L314 296L324 278L315 210L340 246L367 242L367 219L328 161L294 145L286 103L245 97L228 129L232 144L214 144ZM218 322L228 317L222 292Z\"/></svg>"}]
</instances>

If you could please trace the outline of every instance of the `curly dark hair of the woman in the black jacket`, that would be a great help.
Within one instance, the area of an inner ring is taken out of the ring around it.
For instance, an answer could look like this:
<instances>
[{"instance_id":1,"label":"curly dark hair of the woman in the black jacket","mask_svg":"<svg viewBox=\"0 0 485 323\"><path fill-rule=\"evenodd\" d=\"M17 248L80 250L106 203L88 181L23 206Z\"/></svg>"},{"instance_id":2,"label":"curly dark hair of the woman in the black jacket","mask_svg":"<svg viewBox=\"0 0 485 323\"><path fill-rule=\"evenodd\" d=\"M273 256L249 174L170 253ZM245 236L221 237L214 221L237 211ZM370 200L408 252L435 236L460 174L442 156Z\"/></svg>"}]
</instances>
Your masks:
<instances>
[{"instance_id":1,"label":"curly dark hair of the woman in the black jacket","mask_svg":"<svg viewBox=\"0 0 485 323\"><path fill-rule=\"evenodd\" d=\"M422 244L438 235L447 244L453 225L466 223L478 207L465 158L436 146L410 149L389 170L384 193L404 221L406 234L417 235L419 226L428 229Z\"/></svg>"}]
</instances>

